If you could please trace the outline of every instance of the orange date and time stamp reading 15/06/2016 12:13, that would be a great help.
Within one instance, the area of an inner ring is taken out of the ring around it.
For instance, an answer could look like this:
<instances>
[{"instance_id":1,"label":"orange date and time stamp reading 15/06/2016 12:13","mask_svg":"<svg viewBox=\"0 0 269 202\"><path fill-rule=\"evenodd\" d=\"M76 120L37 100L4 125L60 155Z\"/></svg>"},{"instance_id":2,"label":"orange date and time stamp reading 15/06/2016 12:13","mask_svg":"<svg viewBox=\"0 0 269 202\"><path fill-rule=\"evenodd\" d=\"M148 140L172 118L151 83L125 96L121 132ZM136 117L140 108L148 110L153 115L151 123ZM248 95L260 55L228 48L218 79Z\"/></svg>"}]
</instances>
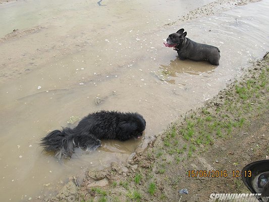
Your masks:
<instances>
[{"instance_id":1,"label":"orange date and time stamp reading 15/06/2016 12:13","mask_svg":"<svg viewBox=\"0 0 269 202\"><path fill-rule=\"evenodd\" d=\"M233 170L188 170L188 177L251 177L251 171Z\"/></svg>"}]
</instances>

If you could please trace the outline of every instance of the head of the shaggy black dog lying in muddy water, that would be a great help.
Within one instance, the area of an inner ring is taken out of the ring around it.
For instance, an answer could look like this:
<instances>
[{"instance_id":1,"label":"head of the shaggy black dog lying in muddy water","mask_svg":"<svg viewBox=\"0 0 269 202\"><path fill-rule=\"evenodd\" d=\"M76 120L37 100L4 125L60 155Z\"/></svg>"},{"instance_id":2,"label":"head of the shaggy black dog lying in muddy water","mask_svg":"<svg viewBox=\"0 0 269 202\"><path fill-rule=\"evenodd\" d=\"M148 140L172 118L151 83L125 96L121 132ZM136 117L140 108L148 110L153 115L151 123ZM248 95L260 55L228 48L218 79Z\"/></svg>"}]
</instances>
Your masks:
<instances>
[{"instance_id":1,"label":"head of the shaggy black dog lying in muddy water","mask_svg":"<svg viewBox=\"0 0 269 202\"><path fill-rule=\"evenodd\" d=\"M120 139L125 141L131 137L139 138L142 136L145 128L146 121L138 113L127 113L126 119L119 123L119 128L121 131Z\"/></svg>"}]
</instances>

